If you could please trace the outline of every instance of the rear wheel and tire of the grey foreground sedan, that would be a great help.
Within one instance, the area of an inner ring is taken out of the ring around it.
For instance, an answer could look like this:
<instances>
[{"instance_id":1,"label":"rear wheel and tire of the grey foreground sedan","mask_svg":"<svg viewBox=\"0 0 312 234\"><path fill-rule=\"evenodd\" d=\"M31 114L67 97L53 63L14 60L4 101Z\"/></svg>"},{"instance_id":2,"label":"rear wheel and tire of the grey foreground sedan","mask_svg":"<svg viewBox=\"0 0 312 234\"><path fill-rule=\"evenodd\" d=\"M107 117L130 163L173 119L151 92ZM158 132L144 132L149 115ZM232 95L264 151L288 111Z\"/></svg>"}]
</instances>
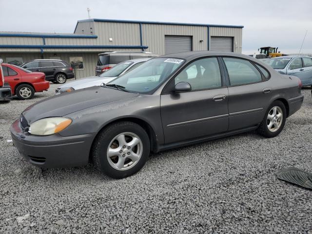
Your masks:
<instances>
[{"instance_id":1,"label":"rear wheel and tire of the grey foreground sedan","mask_svg":"<svg viewBox=\"0 0 312 234\"><path fill-rule=\"evenodd\" d=\"M276 137L283 130L286 117L284 103L279 100L273 101L257 129L258 133L267 138Z\"/></svg>"}]
</instances>

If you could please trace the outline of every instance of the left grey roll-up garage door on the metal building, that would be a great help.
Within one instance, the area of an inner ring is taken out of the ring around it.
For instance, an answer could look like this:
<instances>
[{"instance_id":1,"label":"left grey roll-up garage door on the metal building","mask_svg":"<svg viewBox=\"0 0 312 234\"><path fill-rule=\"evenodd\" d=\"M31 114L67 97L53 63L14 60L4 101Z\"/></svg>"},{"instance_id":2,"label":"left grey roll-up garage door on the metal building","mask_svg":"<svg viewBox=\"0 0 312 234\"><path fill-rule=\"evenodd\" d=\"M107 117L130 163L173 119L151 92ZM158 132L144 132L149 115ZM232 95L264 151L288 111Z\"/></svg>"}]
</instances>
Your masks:
<instances>
[{"instance_id":1,"label":"left grey roll-up garage door on the metal building","mask_svg":"<svg viewBox=\"0 0 312 234\"><path fill-rule=\"evenodd\" d=\"M192 37L190 36L165 36L165 53L192 51Z\"/></svg>"}]
</instances>

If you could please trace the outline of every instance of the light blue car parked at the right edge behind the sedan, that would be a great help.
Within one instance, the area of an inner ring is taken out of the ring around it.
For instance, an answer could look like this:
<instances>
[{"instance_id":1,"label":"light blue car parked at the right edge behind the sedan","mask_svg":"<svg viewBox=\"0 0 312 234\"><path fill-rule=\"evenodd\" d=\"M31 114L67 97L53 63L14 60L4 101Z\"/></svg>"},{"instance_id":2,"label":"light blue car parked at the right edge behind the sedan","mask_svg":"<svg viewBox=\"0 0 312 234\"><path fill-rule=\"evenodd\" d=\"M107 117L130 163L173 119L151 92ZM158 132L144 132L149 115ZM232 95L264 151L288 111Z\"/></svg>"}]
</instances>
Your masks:
<instances>
[{"instance_id":1,"label":"light blue car parked at the right edge behind the sedan","mask_svg":"<svg viewBox=\"0 0 312 234\"><path fill-rule=\"evenodd\" d=\"M264 61L276 71L301 79L302 86L312 86L312 57L310 56L281 56Z\"/></svg>"}]
</instances>

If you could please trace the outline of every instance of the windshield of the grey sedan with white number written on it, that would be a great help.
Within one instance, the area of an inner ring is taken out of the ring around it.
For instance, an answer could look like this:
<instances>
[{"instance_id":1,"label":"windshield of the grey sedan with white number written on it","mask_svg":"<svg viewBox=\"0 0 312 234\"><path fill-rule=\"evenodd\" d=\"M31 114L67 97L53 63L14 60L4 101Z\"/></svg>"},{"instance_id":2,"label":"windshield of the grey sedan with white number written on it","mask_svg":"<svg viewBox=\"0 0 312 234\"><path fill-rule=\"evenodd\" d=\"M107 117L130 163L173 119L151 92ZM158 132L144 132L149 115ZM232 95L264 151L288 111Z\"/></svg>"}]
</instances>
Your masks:
<instances>
[{"instance_id":1,"label":"windshield of the grey sedan with white number written on it","mask_svg":"<svg viewBox=\"0 0 312 234\"><path fill-rule=\"evenodd\" d=\"M132 71L110 81L124 89L140 93L153 93L184 62L184 59L156 58L151 59Z\"/></svg>"}]
</instances>

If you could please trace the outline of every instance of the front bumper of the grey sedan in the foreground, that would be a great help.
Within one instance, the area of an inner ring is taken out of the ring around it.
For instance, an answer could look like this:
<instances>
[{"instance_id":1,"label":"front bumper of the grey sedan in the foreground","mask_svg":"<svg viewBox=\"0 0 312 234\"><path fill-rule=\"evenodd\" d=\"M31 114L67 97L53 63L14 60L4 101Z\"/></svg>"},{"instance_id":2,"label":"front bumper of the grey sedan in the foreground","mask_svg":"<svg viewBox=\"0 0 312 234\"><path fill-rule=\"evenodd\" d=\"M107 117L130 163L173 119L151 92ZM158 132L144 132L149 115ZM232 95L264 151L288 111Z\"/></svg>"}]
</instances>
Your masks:
<instances>
[{"instance_id":1,"label":"front bumper of the grey sedan in the foreground","mask_svg":"<svg viewBox=\"0 0 312 234\"><path fill-rule=\"evenodd\" d=\"M86 165L96 134L62 137L34 136L20 127L20 120L11 125L14 146L29 163L43 168Z\"/></svg>"}]
</instances>

